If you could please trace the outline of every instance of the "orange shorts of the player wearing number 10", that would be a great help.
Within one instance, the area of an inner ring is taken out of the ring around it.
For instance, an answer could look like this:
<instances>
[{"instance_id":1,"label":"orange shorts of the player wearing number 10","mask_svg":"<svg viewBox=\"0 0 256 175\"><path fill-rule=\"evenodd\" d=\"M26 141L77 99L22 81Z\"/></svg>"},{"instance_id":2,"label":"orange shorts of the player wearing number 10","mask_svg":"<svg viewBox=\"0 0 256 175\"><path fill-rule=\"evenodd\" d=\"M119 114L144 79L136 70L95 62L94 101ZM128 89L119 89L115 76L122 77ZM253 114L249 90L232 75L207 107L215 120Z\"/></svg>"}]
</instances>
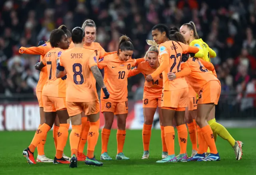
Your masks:
<instances>
[{"instance_id":1,"label":"orange shorts of the player wearing number 10","mask_svg":"<svg viewBox=\"0 0 256 175\"><path fill-rule=\"evenodd\" d=\"M126 102L112 102L101 100L101 112L113 112L117 114L128 114L128 101Z\"/></svg>"}]
</instances>

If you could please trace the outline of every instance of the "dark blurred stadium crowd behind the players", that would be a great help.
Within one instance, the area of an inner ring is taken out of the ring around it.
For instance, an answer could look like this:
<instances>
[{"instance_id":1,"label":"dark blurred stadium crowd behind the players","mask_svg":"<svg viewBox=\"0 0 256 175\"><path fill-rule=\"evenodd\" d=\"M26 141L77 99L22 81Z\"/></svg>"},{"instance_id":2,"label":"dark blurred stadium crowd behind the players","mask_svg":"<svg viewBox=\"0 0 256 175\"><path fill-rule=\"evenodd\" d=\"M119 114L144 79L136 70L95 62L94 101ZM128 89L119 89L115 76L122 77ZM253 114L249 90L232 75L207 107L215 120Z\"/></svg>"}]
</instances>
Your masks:
<instances>
[{"instance_id":1,"label":"dark blurred stadium crowd behind the players","mask_svg":"<svg viewBox=\"0 0 256 175\"><path fill-rule=\"evenodd\" d=\"M118 37L126 34L136 58L144 57L145 40L152 39L155 24L179 28L194 21L200 37L217 53L212 63L222 94L235 93L238 101L255 95L255 0L1 0L0 94L35 90L39 76L34 64L39 56L20 55L20 46L37 46L61 24L71 30L89 18L97 25L96 41L106 51L115 51ZM141 78L130 78L128 90L141 94Z\"/></svg>"}]
</instances>

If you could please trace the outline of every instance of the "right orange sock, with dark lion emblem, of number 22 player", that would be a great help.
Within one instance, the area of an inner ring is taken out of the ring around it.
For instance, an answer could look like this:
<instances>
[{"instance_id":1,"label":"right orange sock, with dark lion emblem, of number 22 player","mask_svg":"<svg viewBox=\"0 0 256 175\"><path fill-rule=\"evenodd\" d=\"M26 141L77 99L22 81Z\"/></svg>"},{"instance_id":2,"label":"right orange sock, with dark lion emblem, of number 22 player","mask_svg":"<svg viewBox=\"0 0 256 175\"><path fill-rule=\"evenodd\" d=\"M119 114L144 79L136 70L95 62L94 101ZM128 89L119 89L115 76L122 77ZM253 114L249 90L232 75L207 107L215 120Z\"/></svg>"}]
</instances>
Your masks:
<instances>
[{"instance_id":1,"label":"right orange sock, with dark lion emblem, of number 22 player","mask_svg":"<svg viewBox=\"0 0 256 175\"><path fill-rule=\"evenodd\" d=\"M187 152L188 129L186 124L176 126L176 128L178 130L180 154L185 154Z\"/></svg>"}]
</instances>

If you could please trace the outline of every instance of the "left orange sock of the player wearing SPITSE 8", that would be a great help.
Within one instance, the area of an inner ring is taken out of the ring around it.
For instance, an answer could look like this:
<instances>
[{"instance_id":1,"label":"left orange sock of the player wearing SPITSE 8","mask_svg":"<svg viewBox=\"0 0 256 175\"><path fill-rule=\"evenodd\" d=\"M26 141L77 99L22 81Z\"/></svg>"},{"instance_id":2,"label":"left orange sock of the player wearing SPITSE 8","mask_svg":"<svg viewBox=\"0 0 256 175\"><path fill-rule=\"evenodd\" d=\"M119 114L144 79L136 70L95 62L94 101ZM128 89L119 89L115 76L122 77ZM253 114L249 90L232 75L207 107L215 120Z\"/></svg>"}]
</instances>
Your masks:
<instances>
[{"instance_id":1,"label":"left orange sock of the player wearing SPITSE 8","mask_svg":"<svg viewBox=\"0 0 256 175\"><path fill-rule=\"evenodd\" d=\"M71 149L71 157L73 154L77 157L77 148L80 140L80 133L82 130L82 125L72 125L72 131L69 136L70 149Z\"/></svg>"}]
</instances>

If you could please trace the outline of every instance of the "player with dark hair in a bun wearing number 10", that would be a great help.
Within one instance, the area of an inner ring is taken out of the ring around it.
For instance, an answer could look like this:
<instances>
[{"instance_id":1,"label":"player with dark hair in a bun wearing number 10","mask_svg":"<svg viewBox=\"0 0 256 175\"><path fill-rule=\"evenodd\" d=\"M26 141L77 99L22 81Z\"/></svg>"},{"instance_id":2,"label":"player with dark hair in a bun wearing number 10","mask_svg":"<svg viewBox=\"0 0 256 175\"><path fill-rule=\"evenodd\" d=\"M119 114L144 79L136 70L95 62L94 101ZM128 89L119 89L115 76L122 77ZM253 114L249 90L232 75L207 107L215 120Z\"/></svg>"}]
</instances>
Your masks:
<instances>
[{"instance_id":1,"label":"player with dark hair in a bun wearing number 10","mask_svg":"<svg viewBox=\"0 0 256 175\"><path fill-rule=\"evenodd\" d=\"M144 61L141 59L132 59L134 47L130 39L123 35L119 39L118 51L114 54L106 55L98 60L98 67L104 68L104 83L110 97L104 99L103 91L101 91L101 111L105 118L104 128L101 132L102 154L100 159L112 160L108 155L108 139L110 129L114 121L114 115L117 117L117 155L116 159L130 159L123 153L124 140L126 136L126 118L128 114L128 90L127 78L133 66Z\"/></svg>"}]
</instances>

